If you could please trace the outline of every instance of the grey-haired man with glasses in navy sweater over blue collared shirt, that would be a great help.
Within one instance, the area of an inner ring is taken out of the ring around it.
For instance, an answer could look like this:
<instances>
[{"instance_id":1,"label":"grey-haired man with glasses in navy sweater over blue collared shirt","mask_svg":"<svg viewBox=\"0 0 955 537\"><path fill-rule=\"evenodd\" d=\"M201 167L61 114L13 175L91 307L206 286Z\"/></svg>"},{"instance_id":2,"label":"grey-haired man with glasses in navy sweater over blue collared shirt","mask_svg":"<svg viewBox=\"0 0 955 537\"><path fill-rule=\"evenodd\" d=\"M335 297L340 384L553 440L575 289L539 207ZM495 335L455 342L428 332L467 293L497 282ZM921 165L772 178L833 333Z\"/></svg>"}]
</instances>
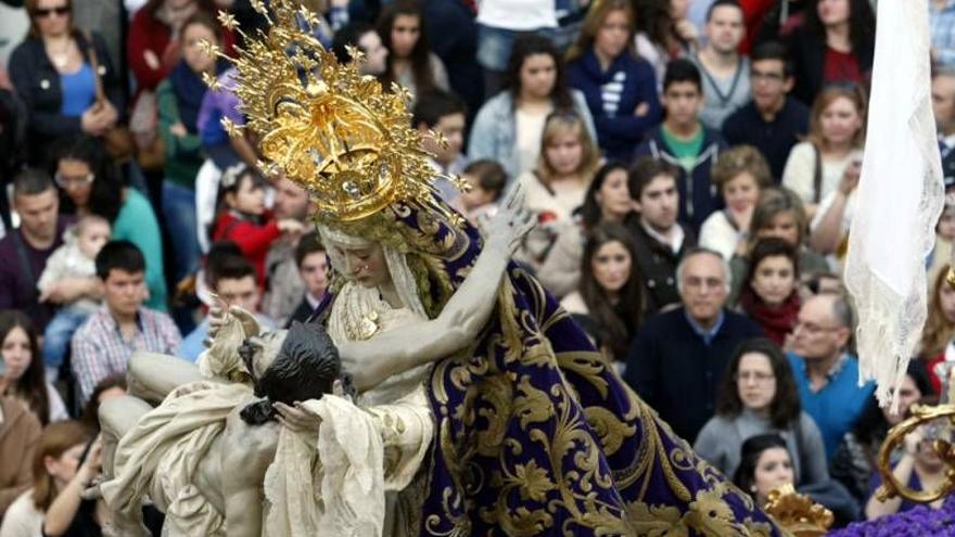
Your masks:
<instances>
[{"instance_id":1,"label":"grey-haired man with glasses in navy sweater over blue collared shirt","mask_svg":"<svg viewBox=\"0 0 955 537\"><path fill-rule=\"evenodd\" d=\"M729 267L717 252L687 252L676 281L682 306L647 319L631 346L625 380L692 443L716 412L716 391L734 348L763 330L726 309Z\"/></svg>"}]
</instances>

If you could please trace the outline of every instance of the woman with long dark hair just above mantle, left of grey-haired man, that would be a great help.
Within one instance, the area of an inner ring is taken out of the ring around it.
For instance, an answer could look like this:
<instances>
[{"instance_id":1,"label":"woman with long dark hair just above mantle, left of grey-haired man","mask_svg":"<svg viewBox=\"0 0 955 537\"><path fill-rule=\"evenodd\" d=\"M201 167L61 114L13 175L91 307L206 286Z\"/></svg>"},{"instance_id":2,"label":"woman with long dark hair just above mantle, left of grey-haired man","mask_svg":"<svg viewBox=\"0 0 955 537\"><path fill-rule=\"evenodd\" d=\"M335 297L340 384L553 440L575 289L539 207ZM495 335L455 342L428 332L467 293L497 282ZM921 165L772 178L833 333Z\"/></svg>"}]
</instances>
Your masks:
<instances>
[{"instance_id":1,"label":"woman with long dark hair just above mantle, left of grey-haired man","mask_svg":"<svg viewBox=\"0 0 955 537\"><path fill-rule=\"evenodd\" d=\"M642 289L629 231L619 223L598 225L584 246L577 291L560 304L571 314L586 314L596 321L621 373L642 318Z\"/></svg>"}]
</instances>

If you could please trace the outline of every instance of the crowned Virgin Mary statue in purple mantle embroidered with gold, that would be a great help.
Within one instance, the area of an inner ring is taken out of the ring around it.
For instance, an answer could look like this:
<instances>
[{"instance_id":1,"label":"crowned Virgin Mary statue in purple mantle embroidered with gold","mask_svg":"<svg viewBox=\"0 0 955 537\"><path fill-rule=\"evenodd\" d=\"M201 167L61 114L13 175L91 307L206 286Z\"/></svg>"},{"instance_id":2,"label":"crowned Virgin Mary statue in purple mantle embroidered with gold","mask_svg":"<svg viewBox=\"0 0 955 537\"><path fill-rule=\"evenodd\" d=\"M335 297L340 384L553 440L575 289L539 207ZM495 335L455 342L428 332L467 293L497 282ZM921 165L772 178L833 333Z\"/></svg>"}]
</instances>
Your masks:
<instances>
[{"instance_id":1,"label":"crowned Virgin Mary statue in purple mantle embroidered with gold","mask_svg":"<svg viewBox=\"0 0 955 537\"><path fill-rule=\"evenodd\" d=\"M482 290L493 307L476 336L450 344L402 334L440 317L485 239L434 194L407 92L361 76L357 50L339 64L313 37L315 15L292 0L253 5L268 29L233 60L249 119L226 129L256 135L263 171L311 194L333 267L314 321L341 349L359 406L412 400L432 420L413 478L389 500L386 533L779 535L520 266L509 264L499 284ZM228 15L220 21L235 27ZM400 341L394 334L430 343L387 343ZM374 350L349 351L362 343ZM282 412L288 423L308 420ZM386 449L384 463L403 457Z\"/></svg>"}]
</instances>

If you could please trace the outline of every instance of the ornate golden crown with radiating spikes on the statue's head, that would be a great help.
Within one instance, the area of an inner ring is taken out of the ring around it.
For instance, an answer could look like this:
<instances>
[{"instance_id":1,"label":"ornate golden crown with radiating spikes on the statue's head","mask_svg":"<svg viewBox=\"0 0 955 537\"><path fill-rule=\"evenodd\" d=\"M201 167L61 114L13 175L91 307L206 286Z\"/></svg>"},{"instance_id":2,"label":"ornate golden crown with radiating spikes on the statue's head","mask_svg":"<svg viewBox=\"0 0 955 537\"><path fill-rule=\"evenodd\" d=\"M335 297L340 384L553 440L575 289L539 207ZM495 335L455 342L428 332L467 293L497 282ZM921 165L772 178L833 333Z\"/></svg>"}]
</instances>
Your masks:
<instances>
[{"instance_id":1,"label":"ornate golden crown with radiating spikes on the statue's head","mask_svg":"<svg viewBox=\"0 0 955 537\"><path fill-rule=\"evenodd\" d=\"M319 20L305 7L293 0L273 0L271 12L260 0L252 5L268 23L252 39L232 15L219 13L219 22L246 43L237 48L237 57L202 43L207 54L237 69L234 92L247 123L224 118L229 136L243 136L244 129L257 135L259 168L281 171L308 190L319 221L352 222L395 202L428 203L440 175L421 149L421 133L411 128L409 92L397 85L385 92L374 77L361 75L365 59L355 47L348 48L353 61L340 64L314 37ZM214 76L204 79L212 90L220 89ZM448 179L460 184L459 178Z\"/></svg>"}]
</instances>

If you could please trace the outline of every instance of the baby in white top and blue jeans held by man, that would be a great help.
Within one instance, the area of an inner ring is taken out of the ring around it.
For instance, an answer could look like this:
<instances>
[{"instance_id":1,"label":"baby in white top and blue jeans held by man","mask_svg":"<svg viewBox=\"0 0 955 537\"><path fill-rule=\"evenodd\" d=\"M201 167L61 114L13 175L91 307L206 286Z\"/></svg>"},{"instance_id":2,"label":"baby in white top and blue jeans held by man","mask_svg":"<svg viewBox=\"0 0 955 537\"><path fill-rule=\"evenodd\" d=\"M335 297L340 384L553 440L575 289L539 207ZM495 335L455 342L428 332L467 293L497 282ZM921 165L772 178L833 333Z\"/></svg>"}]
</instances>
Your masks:
<instances>
[{"instance_id":1,"label":"baby in white top and blue jeans held by man","mask_svg":"<svg viewBox=\"0 0 955 537\"><path fill-rule=\"evenodd\" d=\"M97 276L97 254L110 241L111 233L110 222L92 214L84 216L76 226L69 228L64 233L63 245L47 260L47 267L37 282L40 302L44 302L53 284L64 278ZM99 302L82 297L64 304L47 324L42 355L51 380L56 378L56 370L63 363L73 333L99 307Z\"/></svg>"}]
</instances>

